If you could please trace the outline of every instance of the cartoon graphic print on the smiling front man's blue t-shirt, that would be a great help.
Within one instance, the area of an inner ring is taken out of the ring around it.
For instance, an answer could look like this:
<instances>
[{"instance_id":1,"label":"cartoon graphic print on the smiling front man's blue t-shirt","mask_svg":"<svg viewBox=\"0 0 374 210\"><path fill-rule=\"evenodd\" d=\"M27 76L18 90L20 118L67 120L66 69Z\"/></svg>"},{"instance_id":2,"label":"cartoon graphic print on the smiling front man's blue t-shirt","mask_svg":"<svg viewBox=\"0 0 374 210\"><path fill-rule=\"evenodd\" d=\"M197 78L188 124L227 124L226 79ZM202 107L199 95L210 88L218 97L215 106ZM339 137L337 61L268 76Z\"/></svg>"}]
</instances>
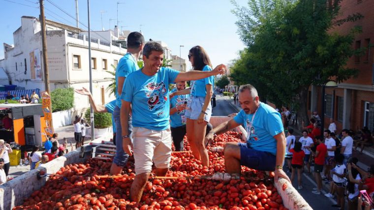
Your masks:
<instances>
[{"instance_id":1,"label":"cartoon graphic print on the smiling front man's blue t-shirt","mask_svg":"<svg viewBox=\"0 0 374 210\"><path fill-rule=\"evenodd\" d=\"M167 101L167 96L166 96L166 88L165 84L163 82L160 83L148 83L146 85L146 96L148 97L148 108L149 110L153 110L156 105L164 105L165 102Z\"/></svg>"}]
</instances>

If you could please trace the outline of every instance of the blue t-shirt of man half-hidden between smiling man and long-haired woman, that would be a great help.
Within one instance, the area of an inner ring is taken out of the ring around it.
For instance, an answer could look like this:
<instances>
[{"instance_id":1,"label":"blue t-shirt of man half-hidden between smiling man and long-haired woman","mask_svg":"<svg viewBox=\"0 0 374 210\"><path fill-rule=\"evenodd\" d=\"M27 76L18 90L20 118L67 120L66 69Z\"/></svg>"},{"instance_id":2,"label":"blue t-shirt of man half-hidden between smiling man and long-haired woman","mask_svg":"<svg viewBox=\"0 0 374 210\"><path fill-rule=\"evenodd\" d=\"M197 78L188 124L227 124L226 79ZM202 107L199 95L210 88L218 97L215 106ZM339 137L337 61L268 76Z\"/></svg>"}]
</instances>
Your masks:
<instances>
[{"instance_id":1,"label":"blue t-shirt of man half-hidden between smiling man and long-haired woman","mask_svg":"<svg viewBox=\"0 0 374 210\"><path fill-rule=\"evenodd\" d=\"M170 92L175 92L177 89L173 89ZM189 94L187 95L176 95L170 99L171 108L176 107L177 105L184 104L188 101ZM171 127L179 127L186 124L186 117L185 117L186 110L182 110L181 112L175 112L174 114L170 115L170 126Z\"/></svg>"}]
</instances>

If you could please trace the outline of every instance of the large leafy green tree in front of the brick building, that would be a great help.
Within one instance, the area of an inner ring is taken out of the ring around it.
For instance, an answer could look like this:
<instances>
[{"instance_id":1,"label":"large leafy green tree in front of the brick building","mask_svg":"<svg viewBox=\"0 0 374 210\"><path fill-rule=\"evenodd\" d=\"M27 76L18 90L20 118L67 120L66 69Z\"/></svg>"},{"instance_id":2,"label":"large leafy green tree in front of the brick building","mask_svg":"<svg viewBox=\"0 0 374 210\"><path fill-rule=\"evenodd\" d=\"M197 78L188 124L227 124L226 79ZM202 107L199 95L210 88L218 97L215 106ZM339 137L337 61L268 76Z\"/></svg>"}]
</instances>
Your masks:
<instances>
[{"instance_id":1,"label":"large leafy green tree in front of the brick building","mask_svg":"<svg viewBox=\"0 0 374 210\"><path fill-rule=\"evenodd\" d=\"M248 7L232 2L247 46L231 69L237 85L251 83L277 106L293 103L300 121L308 122L311 85L357 75L345 64L358 52L351 46L360 27L344 35L331 31L362 16L338 19L341 0L249 0Z\"/></svg>"}]
</instances>

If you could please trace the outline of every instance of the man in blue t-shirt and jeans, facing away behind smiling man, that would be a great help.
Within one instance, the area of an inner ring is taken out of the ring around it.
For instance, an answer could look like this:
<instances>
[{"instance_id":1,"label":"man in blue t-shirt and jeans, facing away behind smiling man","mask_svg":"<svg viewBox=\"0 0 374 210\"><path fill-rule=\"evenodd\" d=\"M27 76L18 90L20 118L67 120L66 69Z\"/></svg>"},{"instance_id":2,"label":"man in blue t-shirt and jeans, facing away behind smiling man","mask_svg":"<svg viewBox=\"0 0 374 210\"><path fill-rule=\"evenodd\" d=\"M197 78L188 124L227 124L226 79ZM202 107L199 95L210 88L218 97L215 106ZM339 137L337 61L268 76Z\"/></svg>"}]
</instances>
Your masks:
<instances>
[{"instance_id":1,"label":"man in blue t-shirt and jeans, facing away behind smiling man","mask_svg":"<svg viewBox=\"0 0 374 210\"><path fill-rule=\"evenodd\" d=\"M116 69L116 107L113 111L114 123L116 125L116 155L113 158L112 166L110 167L110 174L121 174L124 166L127 163L128 154L125 153L122 147L122 127L120 119L122 90L125 84L126 77L132 72L139 70L138 59L144 47L144 37L139 32L131 32L127 36L127 53L119 61ZM132 131L131 117L128 117L128 127L126 134L130 135Z\"/></svg>"}]
</instances>

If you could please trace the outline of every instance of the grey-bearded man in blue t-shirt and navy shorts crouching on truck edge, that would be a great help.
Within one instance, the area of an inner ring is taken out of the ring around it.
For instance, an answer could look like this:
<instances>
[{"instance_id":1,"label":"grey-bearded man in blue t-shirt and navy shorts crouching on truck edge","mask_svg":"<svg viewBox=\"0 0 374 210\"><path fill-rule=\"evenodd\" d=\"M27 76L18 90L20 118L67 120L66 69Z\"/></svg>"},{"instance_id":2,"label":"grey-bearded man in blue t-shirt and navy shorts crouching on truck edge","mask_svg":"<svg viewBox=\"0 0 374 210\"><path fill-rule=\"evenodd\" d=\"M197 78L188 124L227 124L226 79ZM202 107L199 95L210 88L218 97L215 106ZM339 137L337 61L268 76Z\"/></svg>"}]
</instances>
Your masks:
<instances>
[{"instance_id":1,"label":"grey-bearded man in blue t-shirt and navy shorts crouching on truck edge","mask_svg":"<svg viewBox=\"0 0 374 210\"><path fill-rule=\"evenodd\" d=\"M275 181L282 177L289 181L282 169L285 135L280 114L260 102L257 90L251 85L239 88L242 110L233 119L219 124L205 137L205 144L214 134L224 133L243 125L248 133L247 143L227 143L224 148L226 172L240 174L241 165L261 171L275 171Z\"/></svg>"}]
</instances>

